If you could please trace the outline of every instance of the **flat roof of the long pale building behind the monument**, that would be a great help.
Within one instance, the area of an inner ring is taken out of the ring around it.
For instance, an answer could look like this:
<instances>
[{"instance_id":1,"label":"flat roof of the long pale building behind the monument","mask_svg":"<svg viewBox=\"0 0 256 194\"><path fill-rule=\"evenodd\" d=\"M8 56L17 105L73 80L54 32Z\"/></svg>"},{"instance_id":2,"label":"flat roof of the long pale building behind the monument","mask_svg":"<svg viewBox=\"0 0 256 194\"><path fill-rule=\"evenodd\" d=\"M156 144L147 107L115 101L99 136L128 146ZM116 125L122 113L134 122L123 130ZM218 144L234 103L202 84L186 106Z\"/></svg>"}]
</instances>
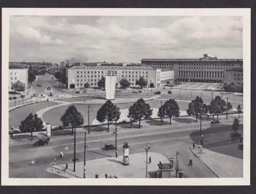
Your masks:
<instances>
[{"instance_id":1,"label":"flat roof of the long pale building behind the monument","mask_svg":"<svg viewBox=\"0 0 256 194\"><path fill-rule=\"evenodd\" d=\"M70 70L156 70L151 66L71 66Z\"/></svg>"}]
</instances>

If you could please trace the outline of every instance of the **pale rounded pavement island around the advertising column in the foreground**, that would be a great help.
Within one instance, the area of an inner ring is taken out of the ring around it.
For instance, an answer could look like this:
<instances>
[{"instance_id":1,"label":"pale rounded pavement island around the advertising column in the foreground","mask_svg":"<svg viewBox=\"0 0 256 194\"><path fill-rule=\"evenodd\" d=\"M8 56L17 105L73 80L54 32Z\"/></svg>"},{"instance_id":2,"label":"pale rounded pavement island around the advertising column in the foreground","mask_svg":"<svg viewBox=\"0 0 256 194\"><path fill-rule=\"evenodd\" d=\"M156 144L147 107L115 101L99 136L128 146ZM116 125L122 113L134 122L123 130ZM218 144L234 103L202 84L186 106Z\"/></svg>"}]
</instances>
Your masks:
<instances>
[{"instance_id":1,"label":"pale rounded pavement island around the advertising column in the foreground","mask_svg":"<svg viewBox=\"0 0 256 194\"><path fill-rule=\"evenodd\" d=\"M158 153L148 153L148 157L153 158L152 163L147 165L147 177L155 175L155 171L158 170L158 163L169 163L169 160ZM157 160L154 160L156 159ZM73 171L73 163L68 164L69 167L66 170L65 175L53 172L50 168L47 169L50 173L65 176L67 178L83 178L83 162L76 162L76 171ZM65 165L55 165L54 167L63 169ZM146 154L136 153L129 156L129 165L123 165L123 156L102 158L96 160L86 161L86 178L95 178L95 175L99 175L99 178L105 178L105 173L108 176L114 175L118 178L145 178L146 173ZM173 173L172 173L173 174ZM154 177L153 177L154 178Z\"/></svg>"}]
</instances>

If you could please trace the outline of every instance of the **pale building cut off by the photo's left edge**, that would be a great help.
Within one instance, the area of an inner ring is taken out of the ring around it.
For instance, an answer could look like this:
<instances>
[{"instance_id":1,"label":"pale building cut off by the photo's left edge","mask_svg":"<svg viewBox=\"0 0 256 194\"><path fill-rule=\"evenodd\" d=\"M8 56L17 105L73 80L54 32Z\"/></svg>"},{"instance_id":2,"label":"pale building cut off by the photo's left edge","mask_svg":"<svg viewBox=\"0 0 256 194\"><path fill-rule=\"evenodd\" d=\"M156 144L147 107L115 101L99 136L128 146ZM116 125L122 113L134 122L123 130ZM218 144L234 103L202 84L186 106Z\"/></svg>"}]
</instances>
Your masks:
<instances>
[{"instance_id":1,"label":"pale building cut off by the photo's left edge","mask_svg":"<svg viewBox=\"0 0 256 194\"><path fill-rule=\"evenodd\" d=\"M9 91L12 88L12 84L16 81L25 83L25 93L28 91L28 69L18 66L17 64L9 65Z\"/></svg>"}]
</instances>

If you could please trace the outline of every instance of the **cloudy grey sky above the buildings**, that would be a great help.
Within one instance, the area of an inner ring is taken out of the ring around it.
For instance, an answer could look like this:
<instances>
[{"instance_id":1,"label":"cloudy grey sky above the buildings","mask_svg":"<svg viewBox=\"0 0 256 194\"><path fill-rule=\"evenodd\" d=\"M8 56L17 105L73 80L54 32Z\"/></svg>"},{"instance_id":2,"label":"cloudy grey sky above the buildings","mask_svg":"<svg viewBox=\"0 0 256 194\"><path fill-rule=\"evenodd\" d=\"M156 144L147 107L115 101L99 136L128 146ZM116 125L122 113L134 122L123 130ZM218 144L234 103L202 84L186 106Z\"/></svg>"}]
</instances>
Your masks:
<instances>
[{"instance_id":1,"label":"cloudy grey sky above the buildings","mask_svg":"<svg viewBox=\"0 0 256 194\"><path fill-rule=\"evenodd\" d=\"M10 61L243 58L239 16L10 16Z\"/></svg>"}]
</instances>

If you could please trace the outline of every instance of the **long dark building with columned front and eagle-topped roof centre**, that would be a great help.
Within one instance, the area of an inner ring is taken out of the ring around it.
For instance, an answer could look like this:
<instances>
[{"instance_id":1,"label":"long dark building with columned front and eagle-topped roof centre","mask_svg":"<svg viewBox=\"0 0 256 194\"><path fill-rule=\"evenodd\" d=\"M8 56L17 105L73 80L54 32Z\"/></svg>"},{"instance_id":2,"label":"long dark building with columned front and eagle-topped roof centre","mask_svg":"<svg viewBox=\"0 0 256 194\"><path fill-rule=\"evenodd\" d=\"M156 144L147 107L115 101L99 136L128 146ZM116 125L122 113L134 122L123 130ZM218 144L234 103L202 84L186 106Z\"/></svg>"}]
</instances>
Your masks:
<instances>
[{"instance_id":1,"label":"long dark building with columned front and eagle-topped roof centre","mask_svg":"<svg viewBox=\"0 0 256 194\"><path fill-rule=\"evenodd\" d=\"M194 59L142 59L141 65L173 70L176 81L223 83L225 70L243 67L243 59L218 59L204 54Z\"/></svg>"}]
</instances>

